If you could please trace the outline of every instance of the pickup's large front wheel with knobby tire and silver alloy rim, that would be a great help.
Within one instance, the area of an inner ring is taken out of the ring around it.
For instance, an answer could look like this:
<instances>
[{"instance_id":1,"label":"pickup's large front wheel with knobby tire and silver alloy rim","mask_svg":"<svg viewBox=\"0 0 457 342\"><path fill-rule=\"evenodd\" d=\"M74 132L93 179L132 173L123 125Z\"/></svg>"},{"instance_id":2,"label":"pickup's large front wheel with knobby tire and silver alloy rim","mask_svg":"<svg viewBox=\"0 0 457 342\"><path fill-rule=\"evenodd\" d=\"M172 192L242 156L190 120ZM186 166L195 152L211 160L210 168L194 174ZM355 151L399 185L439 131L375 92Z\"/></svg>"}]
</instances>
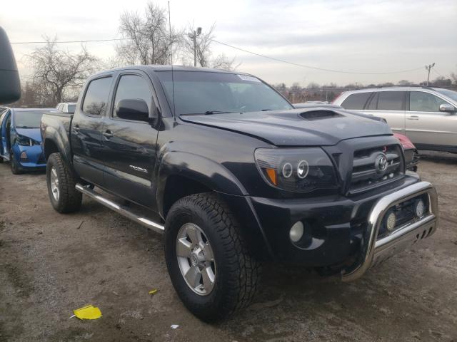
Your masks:
<instances>
[{"instance_id":1,"label":"pickup's large front wheel with knobby tire and silver alloy rim","mask_svg":"<svg viewBox=\"0 0 457 342\"><path fill-rule=\"evenodd\" d=\"M261 266L247 252L229 208L213 193L179 199L165 224L165 257L184 305L206 322L248 306Z\"/></svg>"}]
</instances>

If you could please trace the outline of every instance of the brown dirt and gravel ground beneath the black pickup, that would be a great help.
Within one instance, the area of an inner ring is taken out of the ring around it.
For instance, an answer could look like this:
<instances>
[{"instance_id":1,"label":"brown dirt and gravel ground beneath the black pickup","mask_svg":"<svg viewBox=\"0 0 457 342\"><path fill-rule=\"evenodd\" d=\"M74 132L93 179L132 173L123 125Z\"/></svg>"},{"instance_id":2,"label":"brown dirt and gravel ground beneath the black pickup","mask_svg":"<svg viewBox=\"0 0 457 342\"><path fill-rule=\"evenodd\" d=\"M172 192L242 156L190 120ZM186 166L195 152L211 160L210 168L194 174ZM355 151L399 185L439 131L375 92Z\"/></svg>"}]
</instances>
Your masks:
<instances>
[{"instance_id":1,"label":"brown dirt and gravel ground beneath the black pickup","mask_svg":"<svg viewBox=\"0 0 457 342\"><path fill-rule=\"evenodd\" d=\"M43 173L1 164L0 341L457 341L457 155L428 152L419 173L439 193L431 239L350 284L266 265L255 303L209 325L176 296L160 235L88 198L58 214ZM86 304L103 317L69 318Z\"/></svg>"}]
</instances>

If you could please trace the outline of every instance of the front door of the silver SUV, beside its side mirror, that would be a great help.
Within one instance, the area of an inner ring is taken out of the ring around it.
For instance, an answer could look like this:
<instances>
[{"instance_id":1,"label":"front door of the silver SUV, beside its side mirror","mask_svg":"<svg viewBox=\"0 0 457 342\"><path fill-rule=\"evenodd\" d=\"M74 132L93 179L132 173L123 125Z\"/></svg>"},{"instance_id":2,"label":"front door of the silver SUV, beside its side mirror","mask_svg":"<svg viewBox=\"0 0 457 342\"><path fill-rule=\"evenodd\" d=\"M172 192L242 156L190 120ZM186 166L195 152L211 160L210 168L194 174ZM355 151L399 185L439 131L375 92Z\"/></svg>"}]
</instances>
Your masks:
<instances>
[{"instance_id":1,"label":"front door of the silver SUV, beside its side mirror","mask_svg":"<svg viewBox=\"0 0 457 342\"><path fill-rule=\"evenodd\" d=\"M457 115L439 110L450 103L423 90L411 91L408 102L406 135L417 147L457 146Z\"/></svg>"}]
</instances>

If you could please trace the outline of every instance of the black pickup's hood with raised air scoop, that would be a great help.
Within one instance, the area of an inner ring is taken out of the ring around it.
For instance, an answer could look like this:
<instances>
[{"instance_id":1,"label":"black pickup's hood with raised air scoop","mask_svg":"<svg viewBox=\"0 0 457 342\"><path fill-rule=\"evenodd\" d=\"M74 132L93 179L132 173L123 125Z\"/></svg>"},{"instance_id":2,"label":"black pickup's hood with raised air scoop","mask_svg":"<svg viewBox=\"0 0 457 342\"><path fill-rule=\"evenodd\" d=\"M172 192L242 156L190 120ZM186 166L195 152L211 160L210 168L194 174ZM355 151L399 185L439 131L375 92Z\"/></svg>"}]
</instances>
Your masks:
<instances>
[{"instance_id":1,"label":"black pickup's hood with raised air scoop","mask_svg":"<svg viewBox=\"0 0 457 342\"><path fill-rule=\"evenodd\" d=\"M181 115L187 123L250 135L276 146L336 145L341 140L391 135L379 118L337 108Z\"/></svg>"}]
</instances>

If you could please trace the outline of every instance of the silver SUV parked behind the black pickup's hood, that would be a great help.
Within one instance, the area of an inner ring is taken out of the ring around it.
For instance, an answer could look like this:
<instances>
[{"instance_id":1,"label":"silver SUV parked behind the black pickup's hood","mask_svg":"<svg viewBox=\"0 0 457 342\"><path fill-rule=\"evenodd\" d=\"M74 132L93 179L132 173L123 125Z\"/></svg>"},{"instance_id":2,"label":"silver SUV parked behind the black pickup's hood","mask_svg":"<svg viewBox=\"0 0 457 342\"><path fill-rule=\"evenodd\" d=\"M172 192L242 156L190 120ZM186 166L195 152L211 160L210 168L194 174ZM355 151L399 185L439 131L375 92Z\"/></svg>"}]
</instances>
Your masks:
<instances>
[{"instance_id":1,"label":"silver SUV parked behind the black pickup's hood","mask_svg":"<svg viewBox=\"0 0 457 342\"><path fill-rule=\"evenodd\" d=\"M352 90L333 101L348 110L380 116L419 150L457 152L457 92L428 87Z\"/></svg>"}]
</instances>

